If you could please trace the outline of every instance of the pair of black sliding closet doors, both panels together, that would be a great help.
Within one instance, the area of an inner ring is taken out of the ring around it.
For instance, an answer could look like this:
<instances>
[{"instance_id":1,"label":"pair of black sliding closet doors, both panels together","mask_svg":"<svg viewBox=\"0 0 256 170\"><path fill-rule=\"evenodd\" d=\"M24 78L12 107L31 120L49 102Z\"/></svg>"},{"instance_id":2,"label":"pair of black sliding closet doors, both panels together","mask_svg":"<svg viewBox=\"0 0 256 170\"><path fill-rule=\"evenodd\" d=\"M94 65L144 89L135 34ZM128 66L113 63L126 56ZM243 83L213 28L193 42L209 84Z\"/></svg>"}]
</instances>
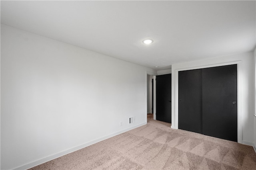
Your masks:
<instances>
[{"instance_id":1,"label":"pair of black sliding closet doors, both panels together","mask_svg":"<svg viewBox=\"0 0 256 170\"><path fill-rule=\"evenodd\" d=\"M179 129L237 142L237 65L178 74Z\"/></svg>"}]
</instances>

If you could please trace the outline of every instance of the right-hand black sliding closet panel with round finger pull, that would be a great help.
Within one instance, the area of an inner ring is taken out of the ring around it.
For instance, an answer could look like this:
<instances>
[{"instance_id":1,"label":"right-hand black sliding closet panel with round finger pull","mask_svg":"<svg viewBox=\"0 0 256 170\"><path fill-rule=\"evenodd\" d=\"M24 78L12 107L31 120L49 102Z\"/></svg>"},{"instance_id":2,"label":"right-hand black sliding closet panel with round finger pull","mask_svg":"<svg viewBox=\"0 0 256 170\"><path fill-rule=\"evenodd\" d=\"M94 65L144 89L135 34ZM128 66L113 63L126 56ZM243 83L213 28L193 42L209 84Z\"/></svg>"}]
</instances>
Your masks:
<instances>
[{"instance_id":1,"label":"right-hand black sliding closet panel with round finger pull","mask_svg":"<svg viewBox=\"0 0 256 170\"><path fill-rule=\"evenodd\" d=\"M237 142L237 65L202 70L203 134Z\"/></svg>"}]
</instances>

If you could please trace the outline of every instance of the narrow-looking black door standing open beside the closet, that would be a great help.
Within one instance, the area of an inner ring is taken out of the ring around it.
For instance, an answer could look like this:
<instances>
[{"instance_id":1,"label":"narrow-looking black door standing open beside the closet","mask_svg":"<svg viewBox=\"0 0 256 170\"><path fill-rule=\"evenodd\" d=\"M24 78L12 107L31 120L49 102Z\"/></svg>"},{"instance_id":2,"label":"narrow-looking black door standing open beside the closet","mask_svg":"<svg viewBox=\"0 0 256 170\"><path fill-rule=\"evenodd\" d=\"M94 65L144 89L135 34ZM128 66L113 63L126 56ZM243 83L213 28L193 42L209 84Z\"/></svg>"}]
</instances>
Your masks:
<instances>
[{"instance_id":1,"label":"narrow-looking black door standing open beside the closet","mask_svg":"<svg viewBox=\"0 0 256 170\"><path fill-rule=\"evenodd\" d=\"M172 74L156 76L156 120L172 123Z\"/></svg>"}]
</instances>

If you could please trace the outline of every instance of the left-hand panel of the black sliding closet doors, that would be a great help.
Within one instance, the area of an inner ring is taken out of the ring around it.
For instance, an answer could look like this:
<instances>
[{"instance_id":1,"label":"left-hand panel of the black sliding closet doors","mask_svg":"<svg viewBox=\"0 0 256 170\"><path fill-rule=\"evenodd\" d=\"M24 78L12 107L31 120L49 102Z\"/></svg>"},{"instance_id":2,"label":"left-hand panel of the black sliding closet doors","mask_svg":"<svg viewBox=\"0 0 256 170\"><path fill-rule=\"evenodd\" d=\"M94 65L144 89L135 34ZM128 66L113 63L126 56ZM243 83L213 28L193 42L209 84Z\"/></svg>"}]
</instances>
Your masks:
<instances>
[{"instance_id":1,"label":"left-hand panel of the black sliding closet doors","mask_svg":"<svg viewBox=\"0 0 256 170\"><path fill-rule=\"evenodd\" d=\"M202 133L202 69L179 71L179 129Z\"/></svg>"}]
</instances>

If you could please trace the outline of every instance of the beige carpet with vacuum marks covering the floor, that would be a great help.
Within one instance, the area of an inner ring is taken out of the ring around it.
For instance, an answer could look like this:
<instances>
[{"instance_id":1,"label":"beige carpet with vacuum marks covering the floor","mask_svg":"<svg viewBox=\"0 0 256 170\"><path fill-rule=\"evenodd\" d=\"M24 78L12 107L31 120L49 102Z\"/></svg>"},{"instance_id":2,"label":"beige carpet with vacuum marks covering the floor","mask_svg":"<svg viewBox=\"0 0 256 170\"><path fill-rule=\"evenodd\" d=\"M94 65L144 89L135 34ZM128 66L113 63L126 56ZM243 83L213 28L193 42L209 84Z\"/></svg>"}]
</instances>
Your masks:
<instances>
[{"instance_id":1,"label":"beige carpet with vacuum marks covering the floor","mask_svg":"<svg viewBox=\"0 0 256 170\"><path fill-rule=\"evenodd\" d=\"M254 149L154 121L31 170L256 170Z\"/></svg>"}]
</instances>

